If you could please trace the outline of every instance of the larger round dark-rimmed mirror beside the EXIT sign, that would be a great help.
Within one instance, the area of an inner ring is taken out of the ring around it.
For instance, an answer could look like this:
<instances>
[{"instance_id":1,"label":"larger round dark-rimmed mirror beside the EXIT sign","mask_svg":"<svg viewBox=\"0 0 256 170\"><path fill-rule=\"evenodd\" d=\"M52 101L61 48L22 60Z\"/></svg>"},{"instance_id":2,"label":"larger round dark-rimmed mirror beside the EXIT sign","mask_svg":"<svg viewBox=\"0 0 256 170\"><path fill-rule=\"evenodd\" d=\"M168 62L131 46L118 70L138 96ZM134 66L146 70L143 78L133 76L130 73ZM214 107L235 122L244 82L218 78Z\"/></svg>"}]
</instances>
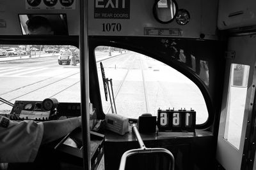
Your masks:
<instances>
[{"instance_id":1,"label":"larger round dark-rimmed mirror beside the EXIT sign","mask_svg":"<svg viewBox=\"0 0 256 170\"><path fill-rule=\"evenodd\" d=\"M153 13L156 20L162 24L172 22L178 11L175 0L156 0Z\"/></svg>"}]
</instances>

